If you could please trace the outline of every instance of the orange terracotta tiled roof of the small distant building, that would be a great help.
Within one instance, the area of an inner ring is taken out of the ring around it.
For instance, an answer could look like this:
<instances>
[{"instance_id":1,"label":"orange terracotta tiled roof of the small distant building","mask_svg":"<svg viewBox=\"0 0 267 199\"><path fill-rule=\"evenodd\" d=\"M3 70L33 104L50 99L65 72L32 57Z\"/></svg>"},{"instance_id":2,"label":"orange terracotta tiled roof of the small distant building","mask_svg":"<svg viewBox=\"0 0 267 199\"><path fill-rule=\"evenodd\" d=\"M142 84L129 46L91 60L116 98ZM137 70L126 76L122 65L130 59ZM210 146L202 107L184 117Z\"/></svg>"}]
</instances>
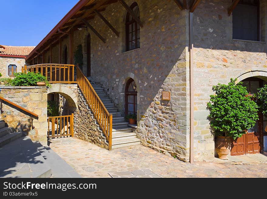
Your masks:
<instances>
[{"instance_id":1,"label":"orange terracotta tiled roof of the small distant building","mask_svg":"<svg viewBox=\"0 0 267 199\"><path fill-rule=\"evenodd\" d=\"M1 47L5 48L1 48ZM5 46L0 45L0 56L1 55L20 55L27 56L35 48L35 46Z\"/></svg>"}]
</instances>

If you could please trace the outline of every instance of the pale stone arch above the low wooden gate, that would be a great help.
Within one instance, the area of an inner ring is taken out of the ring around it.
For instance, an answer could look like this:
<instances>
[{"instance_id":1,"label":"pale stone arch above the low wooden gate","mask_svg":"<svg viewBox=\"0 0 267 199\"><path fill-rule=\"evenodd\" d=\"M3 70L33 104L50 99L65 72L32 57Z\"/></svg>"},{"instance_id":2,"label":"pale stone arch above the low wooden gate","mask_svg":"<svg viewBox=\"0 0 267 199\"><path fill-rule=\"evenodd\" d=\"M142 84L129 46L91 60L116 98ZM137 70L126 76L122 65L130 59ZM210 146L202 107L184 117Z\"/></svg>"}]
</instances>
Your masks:
<instances>
[{"instance_id":1,"label":"pale stone arch above the low wooden gate","mask_svg":"<svg viewBox=\"0 0 267 199\"><path fill-rule=\"evenodd\" d=\"M74 87L74 86L73 86ZM78 91L76 86L76 91L73 88L70 88L68 85L52 84L50 88L47 89L47 94L49 93L58 93L62 95L68 105L74 109L78 110Z\"/></svg>"}]
</instances>

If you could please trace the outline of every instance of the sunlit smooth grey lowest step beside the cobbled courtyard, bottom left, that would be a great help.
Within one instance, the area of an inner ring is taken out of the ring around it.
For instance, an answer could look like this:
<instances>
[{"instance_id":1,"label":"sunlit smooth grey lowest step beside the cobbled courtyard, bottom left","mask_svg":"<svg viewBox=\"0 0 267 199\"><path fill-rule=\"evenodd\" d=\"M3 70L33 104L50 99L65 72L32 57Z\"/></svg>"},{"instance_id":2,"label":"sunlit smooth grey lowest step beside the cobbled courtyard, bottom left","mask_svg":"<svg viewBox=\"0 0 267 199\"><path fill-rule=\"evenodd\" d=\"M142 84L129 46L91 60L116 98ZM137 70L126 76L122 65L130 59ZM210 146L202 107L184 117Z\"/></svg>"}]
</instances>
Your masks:
<instances>
[{"instance_id":1,"label":"sunlit smooth grey lowest step beside the cobbled courtyard, bottom left","mask_svg":"<svg viewBox=\"0 0 267 199\"><path fill-rule=\"evenodd\" d=\"M51 167L52 177L81 177L73 167L56 154L50 147L43 146L37 141L33 143L45 159L46 163Z\"/></svg>"}]
</instances>

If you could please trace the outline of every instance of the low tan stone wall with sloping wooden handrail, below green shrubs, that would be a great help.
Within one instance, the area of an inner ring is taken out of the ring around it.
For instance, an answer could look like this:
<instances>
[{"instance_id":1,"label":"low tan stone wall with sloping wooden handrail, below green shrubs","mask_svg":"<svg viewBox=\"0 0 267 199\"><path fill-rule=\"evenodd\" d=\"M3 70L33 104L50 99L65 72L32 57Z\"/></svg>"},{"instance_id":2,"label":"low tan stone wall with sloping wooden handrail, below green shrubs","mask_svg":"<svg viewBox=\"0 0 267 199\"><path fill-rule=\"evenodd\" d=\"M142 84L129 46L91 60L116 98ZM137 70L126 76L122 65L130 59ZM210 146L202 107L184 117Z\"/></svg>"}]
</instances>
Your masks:
<instances>
[{"instance_id":1,"label":"low tan stone wall with sloping wooden handrail, below green shrubs","mask_svg":"<svg viewBox=\"0 0 267 199\"><path fill-rule=\"evenodd\" d=\"M3 101L4 113L0 114L0 120L5 121L6 126L14 127L15 131L23 131L32 140L39 140L47 144L47 89L41 86L0 86L0 96L14 102L38 115L33 117L34 130L31 130L31 115Z\"/></svg>"}]
</instances>

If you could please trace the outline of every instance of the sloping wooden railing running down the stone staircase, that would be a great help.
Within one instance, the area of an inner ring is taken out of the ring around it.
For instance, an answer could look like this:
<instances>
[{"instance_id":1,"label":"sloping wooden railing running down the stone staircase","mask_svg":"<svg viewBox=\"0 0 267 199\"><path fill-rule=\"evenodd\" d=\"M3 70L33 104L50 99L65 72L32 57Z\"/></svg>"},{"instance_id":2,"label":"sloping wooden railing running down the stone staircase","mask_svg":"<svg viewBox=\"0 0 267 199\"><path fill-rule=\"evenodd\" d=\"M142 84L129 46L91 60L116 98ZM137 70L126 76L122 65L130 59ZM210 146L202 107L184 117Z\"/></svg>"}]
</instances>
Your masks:
<instances>
[{"instance_id":1,"label":"sloping wooden railing running down the stone staircase","mask_svg":"<svg viewBox=\"0 0 267 199\"><path fill-rule=\"evenodd\" d=\"M86 98L87 104L93 112L100 128L109 142L109 150L112 149L112 114L110 114L99 96L96 94L93 86L83 75L82 71L77 67L77 84L81 89L83 96Z\"/></svg>"}]
</instances>

